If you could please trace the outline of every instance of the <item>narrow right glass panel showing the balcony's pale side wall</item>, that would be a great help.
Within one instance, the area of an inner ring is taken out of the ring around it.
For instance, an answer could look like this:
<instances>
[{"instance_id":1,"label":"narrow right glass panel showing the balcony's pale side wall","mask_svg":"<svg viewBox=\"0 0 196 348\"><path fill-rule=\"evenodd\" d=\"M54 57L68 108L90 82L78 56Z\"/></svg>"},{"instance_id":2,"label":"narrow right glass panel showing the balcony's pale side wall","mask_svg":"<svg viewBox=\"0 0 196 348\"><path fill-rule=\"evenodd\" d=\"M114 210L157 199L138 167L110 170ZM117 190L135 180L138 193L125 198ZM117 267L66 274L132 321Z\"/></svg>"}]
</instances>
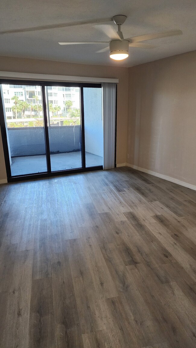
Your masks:
<instances>
[{"instance_id":1,"label":"narrow right glass panel showing the balcony's pale side wall","mask_svg":"<svg viewBox=\"0 0 196 348\"><path fill-rule=\"evenodd\" d=\"M84 87L84 130L86 167L103 165L103 122L101 88Z\"/></svg>"}]
</instances>

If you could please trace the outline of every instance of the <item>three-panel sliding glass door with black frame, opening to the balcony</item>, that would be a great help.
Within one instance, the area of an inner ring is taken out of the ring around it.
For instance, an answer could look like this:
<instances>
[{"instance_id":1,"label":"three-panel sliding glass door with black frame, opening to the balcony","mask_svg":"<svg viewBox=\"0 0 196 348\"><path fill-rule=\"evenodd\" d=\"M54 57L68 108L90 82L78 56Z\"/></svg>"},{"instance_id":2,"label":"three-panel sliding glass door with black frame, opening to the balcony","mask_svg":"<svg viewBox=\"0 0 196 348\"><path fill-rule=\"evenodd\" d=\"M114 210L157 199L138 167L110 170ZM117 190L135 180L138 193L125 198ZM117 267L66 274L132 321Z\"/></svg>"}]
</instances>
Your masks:
<instances>
[{"instance_id":1,"label":"three-panel sliding glass door with black frame, opening to the balcony","mask_svg":"<svg viewBox=\"0 0 196 348\"><path fill-rule=\"evenodd\" d=\"M1 80L0 92L8 179L102 168L100 84Z\"/></svg>"}]
</instances>

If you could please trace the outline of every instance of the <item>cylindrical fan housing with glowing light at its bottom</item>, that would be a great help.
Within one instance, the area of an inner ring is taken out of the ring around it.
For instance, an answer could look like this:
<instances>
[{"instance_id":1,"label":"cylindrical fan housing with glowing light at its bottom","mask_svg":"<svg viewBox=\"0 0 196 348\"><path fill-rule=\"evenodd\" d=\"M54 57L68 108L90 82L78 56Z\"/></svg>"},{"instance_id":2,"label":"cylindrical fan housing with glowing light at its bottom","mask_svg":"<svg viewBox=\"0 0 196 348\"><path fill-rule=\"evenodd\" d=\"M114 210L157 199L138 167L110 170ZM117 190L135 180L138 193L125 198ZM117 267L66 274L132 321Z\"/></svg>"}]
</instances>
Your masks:
<instances>
[{"instance_id":1,"label":"cylindrical fan housing with glowing light at its bottom","mask_svg":"<svg viewBox=\"0 0 196 348\"><path fill-rule=\"evenodd\" d=\"M121 61L128 57L128 40L111 40L110 41L110 58Z\"/></svg>"}]
</instances>

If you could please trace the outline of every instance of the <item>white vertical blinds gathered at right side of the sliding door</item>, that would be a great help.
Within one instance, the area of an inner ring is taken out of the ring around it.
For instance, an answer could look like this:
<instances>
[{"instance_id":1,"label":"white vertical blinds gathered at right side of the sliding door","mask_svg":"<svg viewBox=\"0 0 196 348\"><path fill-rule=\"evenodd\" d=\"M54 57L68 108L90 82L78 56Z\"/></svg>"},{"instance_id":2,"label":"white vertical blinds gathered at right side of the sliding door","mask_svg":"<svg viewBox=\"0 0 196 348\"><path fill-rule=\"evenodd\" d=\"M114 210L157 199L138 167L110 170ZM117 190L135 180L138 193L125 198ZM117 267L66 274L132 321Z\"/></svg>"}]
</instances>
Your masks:
<instances>
[{"instance_id":1,"label":"white vertical blinds gathered at right side of the sliding door","mask_svg":"<svg viewBox=\"0 0 196 348\"><path fill-rule=\"evenodd\" d=\"M115 165L116 84L102 82L103 169Z\"/></svg>"}]
</instances>

